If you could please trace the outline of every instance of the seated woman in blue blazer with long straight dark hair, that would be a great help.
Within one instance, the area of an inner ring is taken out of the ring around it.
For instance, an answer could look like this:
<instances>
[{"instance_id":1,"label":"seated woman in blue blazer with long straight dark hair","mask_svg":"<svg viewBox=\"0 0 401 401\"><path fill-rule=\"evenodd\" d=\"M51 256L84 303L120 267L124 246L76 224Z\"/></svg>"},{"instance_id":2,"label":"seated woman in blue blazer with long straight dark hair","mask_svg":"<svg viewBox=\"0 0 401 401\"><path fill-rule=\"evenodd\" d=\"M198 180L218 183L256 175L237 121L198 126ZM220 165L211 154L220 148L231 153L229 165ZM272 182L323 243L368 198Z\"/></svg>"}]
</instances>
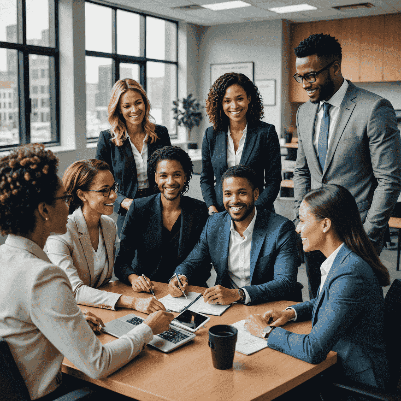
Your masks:
<instances>
[{"instance_id":1,"label":"seated woman in blue blazer with long straight dark hair","mask_svg":"<svg viewBox=\"0 0 401 401\"><path fill-rule=\"evenodd\" d=\"M263 318L251 315L244 327L268 337L269 348L309 363L322 362L333 350L344 377L383 389L389 370L381 286L390 284L389 272L363 229L354 198L333 184L309 192L296 230L304 251L319 250L327 257L317 298L281 312L269 310ZM312 319L310 334L277 327L291 319ZM269 332L271 327L276 328Z\"/></svg>"}]
</instances>

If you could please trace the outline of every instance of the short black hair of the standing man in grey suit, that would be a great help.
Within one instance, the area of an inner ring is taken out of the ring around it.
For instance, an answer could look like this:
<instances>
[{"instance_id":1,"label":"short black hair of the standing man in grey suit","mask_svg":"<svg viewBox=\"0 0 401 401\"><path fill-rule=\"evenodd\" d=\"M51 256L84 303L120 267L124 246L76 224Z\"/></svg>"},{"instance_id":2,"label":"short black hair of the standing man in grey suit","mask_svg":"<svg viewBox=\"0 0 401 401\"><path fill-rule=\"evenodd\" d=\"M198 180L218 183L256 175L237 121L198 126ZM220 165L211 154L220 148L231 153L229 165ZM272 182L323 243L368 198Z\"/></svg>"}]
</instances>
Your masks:
<instances>
[{"instance_id":1,"label":"short black hair of the standing man in grey suit","mask_svg":"<svg viewBox=\"0 0 401 401\"><path fill-rule=\"evenodd\" d=\"M308 36L294 49L297 57L317 54L320 59L338 59L341 63L342 53L338 39L334 36L318 33Z\"/></svg>"}]
</instances>

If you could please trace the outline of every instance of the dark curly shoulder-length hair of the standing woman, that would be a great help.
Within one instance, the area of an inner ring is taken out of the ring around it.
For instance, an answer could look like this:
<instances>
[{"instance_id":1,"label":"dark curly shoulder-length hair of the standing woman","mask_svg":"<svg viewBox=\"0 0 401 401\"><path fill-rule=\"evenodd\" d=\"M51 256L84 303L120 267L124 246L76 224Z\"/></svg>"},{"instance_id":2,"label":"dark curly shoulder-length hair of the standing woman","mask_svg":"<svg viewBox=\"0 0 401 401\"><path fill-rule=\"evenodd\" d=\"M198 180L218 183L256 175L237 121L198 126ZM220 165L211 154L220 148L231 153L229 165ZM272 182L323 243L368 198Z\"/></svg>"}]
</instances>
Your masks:
<instances>
[{"instance_id":1,"label":"dark curly shoulder-length hair of the standing woman","mask_svg":"<svg viewBox=\"0 0 401 401\"><path fill-rule=\"evenodd\" d=\"M246 114L247 122L255 124L264 116L263 100L253 82L244 74L225 73L213 83L206 99L206 113L215 132L228 129L229 118L223 111L223 97L227 88L234 84L240 85L247 96L251 96Z\"/></svg>"}]
</instances>

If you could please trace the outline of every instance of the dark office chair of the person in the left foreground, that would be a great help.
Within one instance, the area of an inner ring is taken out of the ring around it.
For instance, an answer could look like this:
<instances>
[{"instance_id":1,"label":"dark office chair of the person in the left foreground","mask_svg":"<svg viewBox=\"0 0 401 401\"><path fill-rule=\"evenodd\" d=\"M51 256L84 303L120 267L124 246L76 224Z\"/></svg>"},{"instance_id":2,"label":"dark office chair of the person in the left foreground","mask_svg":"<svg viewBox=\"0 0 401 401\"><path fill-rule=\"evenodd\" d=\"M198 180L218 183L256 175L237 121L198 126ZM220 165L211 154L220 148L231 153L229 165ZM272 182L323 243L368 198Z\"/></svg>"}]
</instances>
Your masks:
<instances>
[{"instance_id":1,"label":"dark office chair of the person in the left foreground","mask_svg":"<svg viewBox=\"0 0 401 401\"><path fill-rule=\"evenodd\" d=\"M12 357L10 348L4 338L0 337L0 399L7 401L31 401L28 389ZM95 401L98 397L95 390L82 387L62 395L54 401Z\"/></svg>"}]
</instances>

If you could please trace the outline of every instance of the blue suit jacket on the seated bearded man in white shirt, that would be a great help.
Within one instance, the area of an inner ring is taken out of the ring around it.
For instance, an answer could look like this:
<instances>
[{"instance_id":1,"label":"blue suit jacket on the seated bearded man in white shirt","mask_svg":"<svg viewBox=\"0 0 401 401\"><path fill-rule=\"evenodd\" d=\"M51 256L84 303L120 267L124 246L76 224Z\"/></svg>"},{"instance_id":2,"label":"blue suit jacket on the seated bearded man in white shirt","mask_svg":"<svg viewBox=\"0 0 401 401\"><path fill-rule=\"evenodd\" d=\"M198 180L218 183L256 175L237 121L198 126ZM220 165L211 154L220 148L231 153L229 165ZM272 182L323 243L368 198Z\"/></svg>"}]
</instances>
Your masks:
<instances>
[{"instance_id":1,"label":"blue suit jacket on the seated bearded man in white shirt","mask_svg":"<svg viewBox=\"0 0 401 401\"><path fill-rule=\"evenodd\" d=\"M212 262L216 284L231 288L228 269L231 217L228 212L209 217L201 239L175 273L188 283L203 263ZM245 286L251 304L284 300L294 288L298 273L298 251L294 223L283 216L257 208L251 244L251 285Z\"/></svg>"}]
</instances>

